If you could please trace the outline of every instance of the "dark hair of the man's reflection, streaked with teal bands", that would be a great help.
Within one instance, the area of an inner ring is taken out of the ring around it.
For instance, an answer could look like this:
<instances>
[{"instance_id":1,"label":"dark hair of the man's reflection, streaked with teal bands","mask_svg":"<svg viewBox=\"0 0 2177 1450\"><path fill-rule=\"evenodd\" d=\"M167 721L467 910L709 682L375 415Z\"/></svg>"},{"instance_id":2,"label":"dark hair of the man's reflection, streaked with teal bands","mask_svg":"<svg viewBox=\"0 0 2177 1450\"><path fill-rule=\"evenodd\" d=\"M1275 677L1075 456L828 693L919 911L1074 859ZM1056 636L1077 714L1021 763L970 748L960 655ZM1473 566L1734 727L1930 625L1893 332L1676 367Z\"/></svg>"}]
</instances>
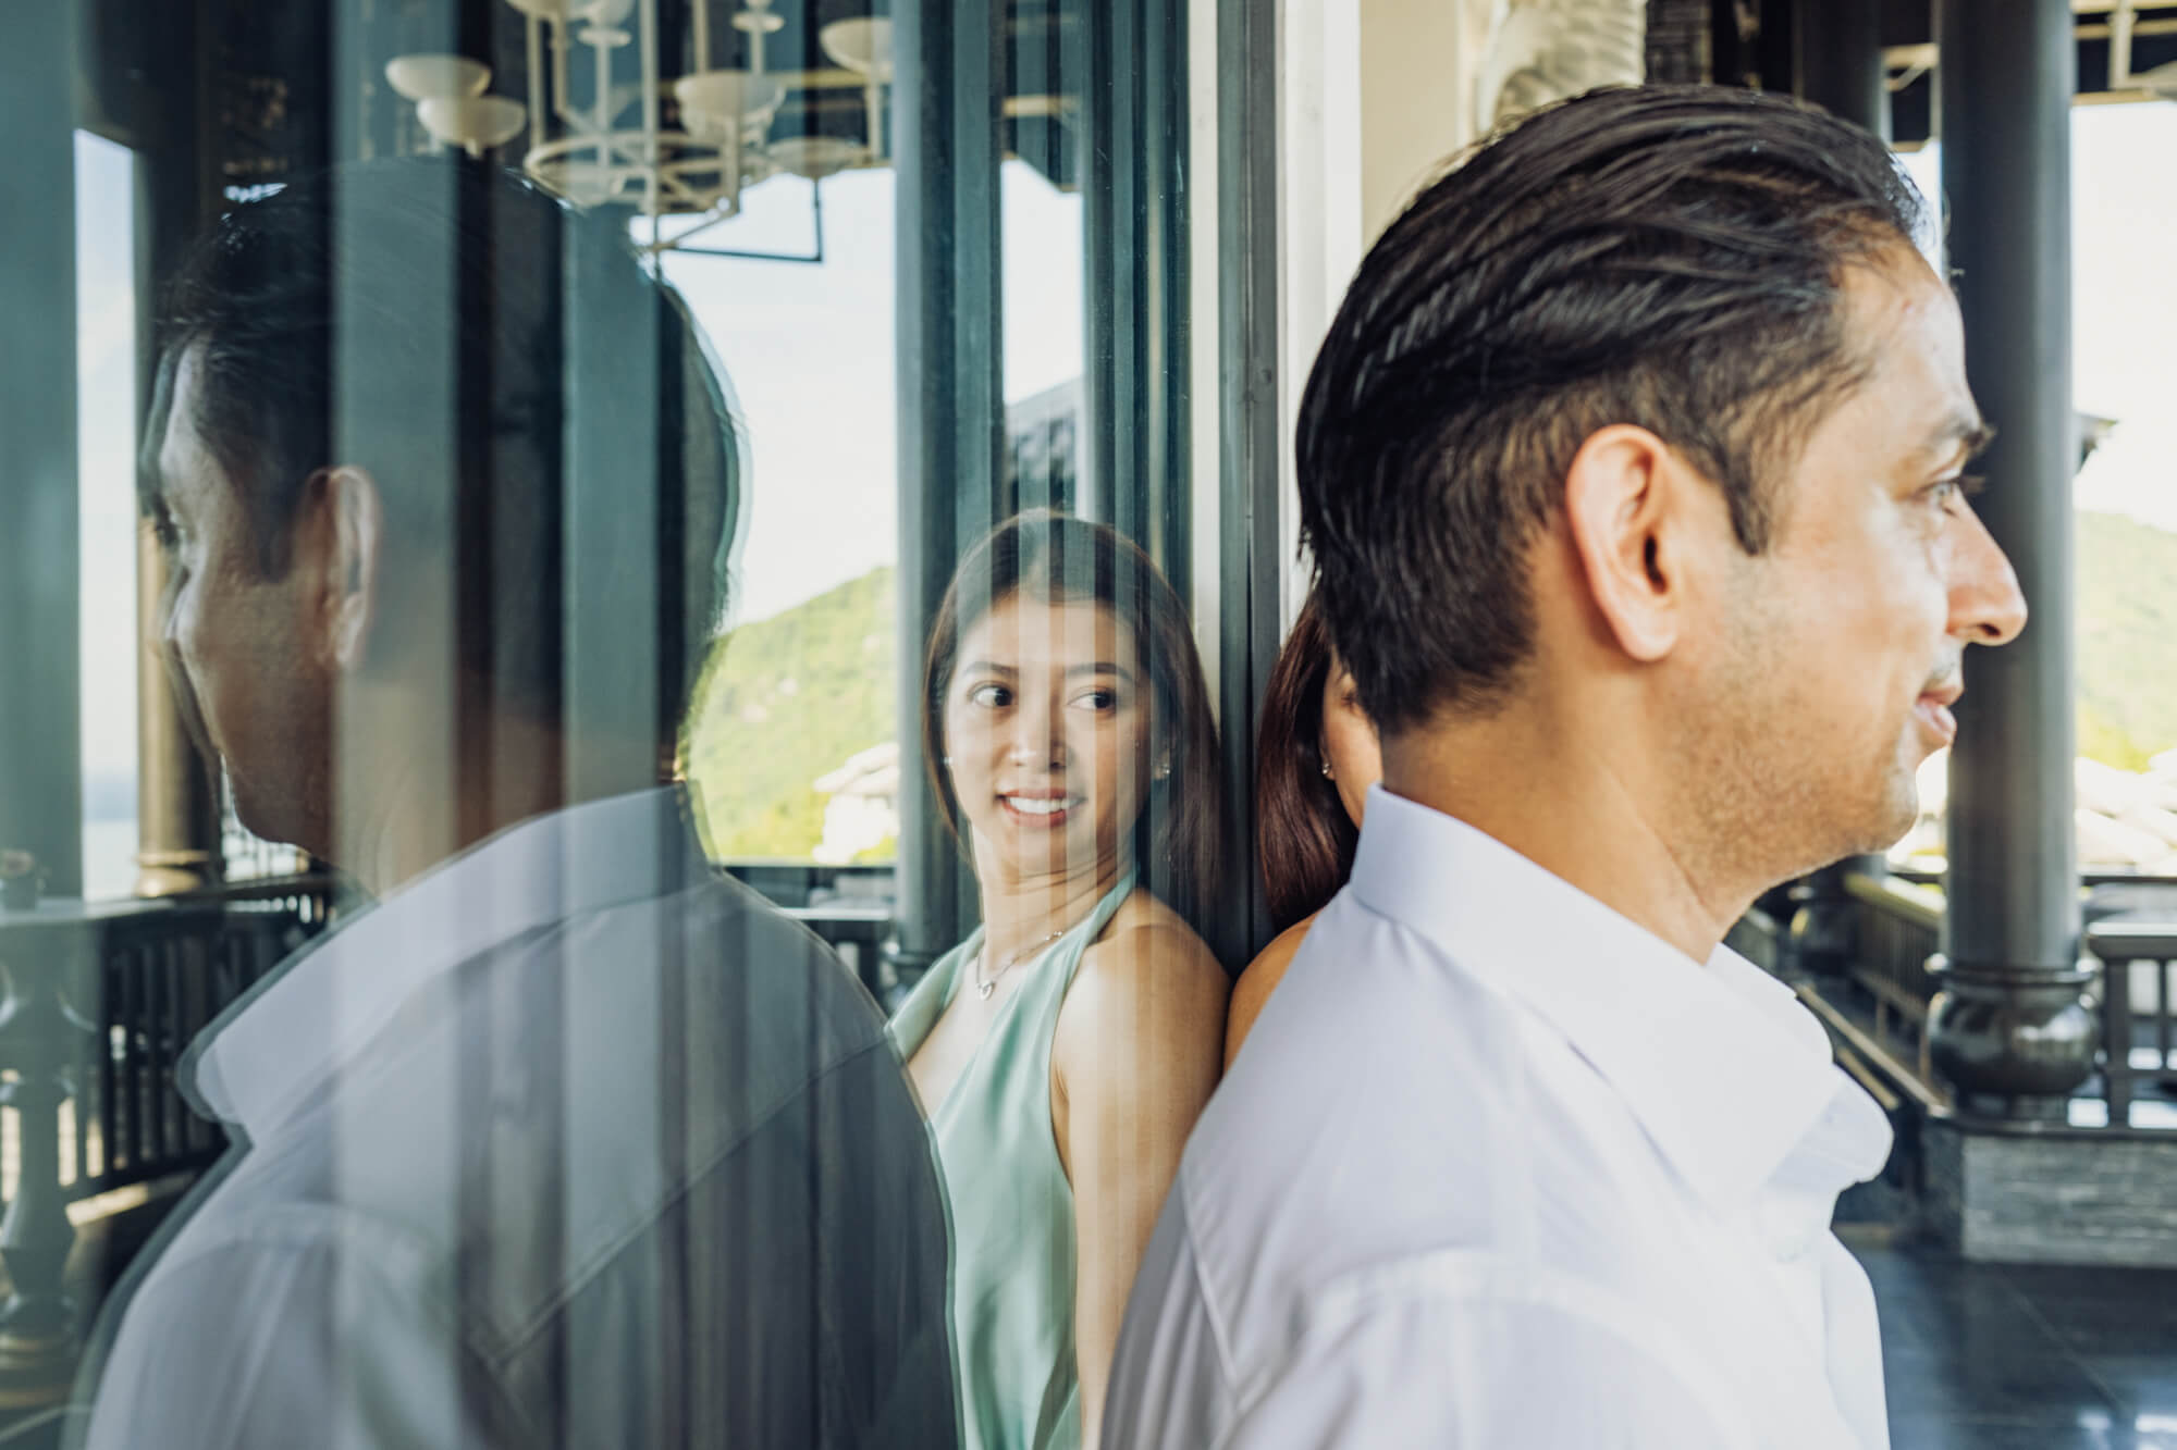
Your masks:
<instances>
[{"instance_id":1,"label":"dark hair of the man's reflection, streaked with teal bands","mask_svg":"<svg viewBox=\"0 0 2177 1450\"><path fill-rule=\"evenodd\" d=\"M340 165L226 213L159 327L146 481L194 355L194 427L266 577L287 568L309 477L361 466L388 583L448 597L475 699L546 723L623 714L566 699L568 618L603 612L655 620L657 725L677 729L727 603L742 442L625 220L462 157Z\"/></svg>"}]
</instances>

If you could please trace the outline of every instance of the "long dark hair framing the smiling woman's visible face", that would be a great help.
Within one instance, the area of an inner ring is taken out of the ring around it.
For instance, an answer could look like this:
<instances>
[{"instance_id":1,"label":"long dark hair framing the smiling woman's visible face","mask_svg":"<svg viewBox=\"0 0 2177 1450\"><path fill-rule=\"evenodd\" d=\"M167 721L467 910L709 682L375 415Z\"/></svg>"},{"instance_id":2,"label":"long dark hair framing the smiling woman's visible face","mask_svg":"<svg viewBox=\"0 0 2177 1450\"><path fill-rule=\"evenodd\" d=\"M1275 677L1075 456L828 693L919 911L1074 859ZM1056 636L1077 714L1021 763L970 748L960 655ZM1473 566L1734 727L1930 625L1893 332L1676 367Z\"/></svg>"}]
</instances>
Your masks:
<instances>
[{"instance_id":1,"label":"long dark hair framing the smiling woman's visible face","mask_svg":"<svg viewBox=\"0 0 2177 1450\"><path fill-rule=\"evenodd\" d=\"M1049 509L1001 523L960 560L938 605L923 660L923 760L945 825L964 840L960 801L945 758L945 692L960 636L1019 592L1049 603L1088 599L1126 620L1149 671L1149 749L1167 771L1152 773L1134 825L1141 882L1208 938L1208 912L1223 884L1223 784L1217 721L1202 660L1180 597L1141 549L1112 529Z\"/></svg>"}]
</instances>

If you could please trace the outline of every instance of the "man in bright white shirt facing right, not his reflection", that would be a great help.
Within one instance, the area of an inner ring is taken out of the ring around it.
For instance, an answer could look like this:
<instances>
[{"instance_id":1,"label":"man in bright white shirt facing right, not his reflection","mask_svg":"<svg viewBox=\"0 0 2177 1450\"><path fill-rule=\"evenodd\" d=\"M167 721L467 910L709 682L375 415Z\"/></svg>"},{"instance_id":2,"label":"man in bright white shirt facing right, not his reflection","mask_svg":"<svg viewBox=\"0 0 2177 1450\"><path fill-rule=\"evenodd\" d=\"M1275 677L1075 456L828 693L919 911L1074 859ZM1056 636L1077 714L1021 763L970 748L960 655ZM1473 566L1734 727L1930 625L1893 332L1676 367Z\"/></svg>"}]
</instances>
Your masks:
<instances>
[{"instance_id":1,"label":"man in bright white shirt facing right, not his reflection","mask_svg":"<svg viewBox=\"0 0 2177 1450\"><path fill-rule=\"evenodd\" d=\"M1720 943L1909 827L2025 625L1922 226L1861 131L1620 89L1369 253L1297 472L1385 779L1189 1143L1106 1450L1887 1446L1829 1232L1887 1123Z\"/></svg>"}]
</instances>

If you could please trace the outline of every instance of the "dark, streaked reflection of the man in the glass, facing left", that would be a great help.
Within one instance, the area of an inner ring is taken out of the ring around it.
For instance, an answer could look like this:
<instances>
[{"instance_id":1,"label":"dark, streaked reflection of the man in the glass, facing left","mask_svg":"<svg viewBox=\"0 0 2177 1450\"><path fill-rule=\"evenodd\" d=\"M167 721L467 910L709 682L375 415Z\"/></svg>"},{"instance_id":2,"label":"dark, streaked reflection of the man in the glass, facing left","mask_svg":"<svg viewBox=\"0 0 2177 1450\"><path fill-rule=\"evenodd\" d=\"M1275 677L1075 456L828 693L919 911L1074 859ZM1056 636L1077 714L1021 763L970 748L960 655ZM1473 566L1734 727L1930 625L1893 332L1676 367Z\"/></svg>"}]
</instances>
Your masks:
<instances>
[{"instance_id":1,"label":"dark, streaked reflection of the man in the glass, facing left","mask_svg":"<svg viewBox=\"0 0 2177 1450\"><path fill-rule=\"evenodd\" d=\"M242 821L377 901L183 1058L237 1147L87 1443L951 1446L884 1023L662 784L747 490L679 298L499 172L300 181L174 281L146 453Z\"/></svg>"}]
</instances>

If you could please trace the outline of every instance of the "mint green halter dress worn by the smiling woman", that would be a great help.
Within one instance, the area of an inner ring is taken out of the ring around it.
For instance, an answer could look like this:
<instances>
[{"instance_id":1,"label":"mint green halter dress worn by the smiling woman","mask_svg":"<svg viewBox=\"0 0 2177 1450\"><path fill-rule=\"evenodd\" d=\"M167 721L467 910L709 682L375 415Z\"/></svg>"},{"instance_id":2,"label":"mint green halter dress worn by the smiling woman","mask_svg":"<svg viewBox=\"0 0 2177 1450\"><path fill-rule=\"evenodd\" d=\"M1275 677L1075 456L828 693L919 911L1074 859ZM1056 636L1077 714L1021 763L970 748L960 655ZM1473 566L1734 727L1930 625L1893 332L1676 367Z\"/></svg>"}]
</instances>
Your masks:
<instances>
[{"instance_id":1,"label":"mint green halter dress worn by the smiling woman","mask_svg":"<svg viewBox=\"0 0 2177 1450\"><path fill-rule=\"evenodd\" d=\"M962 1450L1075 1450L1073 1187L1051 1128L1051 1039L1082 951L1134 890L1128 873L1095 910L1012 967L991 1036L930 1110L951 1213L954 1365ZM940 956L893 1015L901 1058L969 980L982 927Z\"/></svg>"}]
</instances>

